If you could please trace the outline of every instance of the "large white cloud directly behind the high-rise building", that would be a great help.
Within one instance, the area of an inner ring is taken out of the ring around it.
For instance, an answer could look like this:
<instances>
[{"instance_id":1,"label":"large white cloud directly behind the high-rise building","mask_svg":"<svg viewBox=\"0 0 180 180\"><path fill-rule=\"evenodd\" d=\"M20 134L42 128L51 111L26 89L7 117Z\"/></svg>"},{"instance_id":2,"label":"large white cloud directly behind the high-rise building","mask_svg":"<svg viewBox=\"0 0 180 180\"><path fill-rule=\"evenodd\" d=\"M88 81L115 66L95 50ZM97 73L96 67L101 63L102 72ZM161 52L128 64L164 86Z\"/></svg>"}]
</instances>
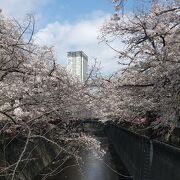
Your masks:
<instances>
[{"instance_id":1,"label":"large white cloud directly behind the high-rise building","mask_svg":"<svg viewBox=\"0 0 180 180\"><path fill-rule=\"evenodd\" d=\"M101 61L104 73L111 73L119 68L116 53L105 44L98 43L99 29L109 15L95 12L74 24L54 22L40 29L35 41L40 45L55 47L59 63L66 64L68 51L84 51L89 59L93 57ZM114 43L118 47L117 43ZM119 47L118 47L119 48Z\"/></svg>"}]
</instances>

